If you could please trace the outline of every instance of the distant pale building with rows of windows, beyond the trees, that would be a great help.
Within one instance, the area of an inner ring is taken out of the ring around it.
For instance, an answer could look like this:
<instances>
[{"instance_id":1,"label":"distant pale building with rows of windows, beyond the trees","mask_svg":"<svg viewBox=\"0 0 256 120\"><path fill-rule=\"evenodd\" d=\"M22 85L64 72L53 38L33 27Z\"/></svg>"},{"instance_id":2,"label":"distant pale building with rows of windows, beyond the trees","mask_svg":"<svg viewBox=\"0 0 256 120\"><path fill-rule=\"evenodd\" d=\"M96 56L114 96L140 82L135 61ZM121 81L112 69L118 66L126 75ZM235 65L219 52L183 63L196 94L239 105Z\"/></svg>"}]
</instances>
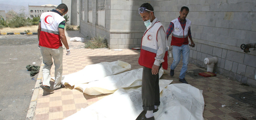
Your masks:
<instances>
[{"instance_id":1,"label":"distant pale building with rows of windows, beyond the trees","mask_svg":"<svg viewBox=\"0 0 256 120\"><path fill-rule=\"evenodd\" d=\"M28 17L33 19L34 17L40 17L43 12L49 12L55 9L57 6L52 4L42 6L28 6Z\"/></svg>"}]
</instances>

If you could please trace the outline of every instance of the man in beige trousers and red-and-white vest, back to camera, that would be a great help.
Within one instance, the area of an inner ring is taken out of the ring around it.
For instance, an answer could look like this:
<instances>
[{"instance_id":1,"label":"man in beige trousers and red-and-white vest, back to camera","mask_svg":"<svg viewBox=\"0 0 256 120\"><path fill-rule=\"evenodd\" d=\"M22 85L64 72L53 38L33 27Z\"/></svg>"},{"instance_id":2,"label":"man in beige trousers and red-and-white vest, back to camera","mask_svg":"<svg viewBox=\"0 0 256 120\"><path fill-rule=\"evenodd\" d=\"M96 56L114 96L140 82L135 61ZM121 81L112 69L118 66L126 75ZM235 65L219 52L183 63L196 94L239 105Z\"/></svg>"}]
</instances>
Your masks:
<instances>
[{"instance_id":1,"label":"man in beige trousers and red-and-white vest, back to camera","mask_svg":"<svg viewBox=\"0 0 256 120\"><path fill-rule=\"evenodd\" d=\"M70 54L66 35L64 33L66 20L62 17L68 12L66 4L60 4L56 10L42 13L38 26L39 47L43 57L43 86L46 92L65 87L61 84L62 79L62 58L63 47L66 47L67 54ZM52 59L54 62L52 62ZM55 65L55 82L53 89L50 87L50 69Z\"/></svg>"}]
</instances>

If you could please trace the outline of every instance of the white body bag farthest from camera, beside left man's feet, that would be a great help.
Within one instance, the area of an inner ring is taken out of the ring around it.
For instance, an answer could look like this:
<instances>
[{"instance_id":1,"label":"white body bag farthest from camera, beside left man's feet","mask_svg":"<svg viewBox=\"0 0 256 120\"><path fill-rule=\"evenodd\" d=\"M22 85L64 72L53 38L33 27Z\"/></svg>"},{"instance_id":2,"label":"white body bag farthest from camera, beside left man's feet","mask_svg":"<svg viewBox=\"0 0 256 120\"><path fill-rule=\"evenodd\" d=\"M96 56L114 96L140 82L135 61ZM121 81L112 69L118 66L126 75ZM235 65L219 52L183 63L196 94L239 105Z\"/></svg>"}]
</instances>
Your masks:
<instances>
[{"instance_id":1,"label":"white body bag farthest from camera, beside left man's feet","mask_svg":"<svg viewBox=\"0 0 256 120\"><path fill-rule=\"evenodd\" d=\"M89 83L92 81L97 81L106 76L116 75L125 71L129 71L131 65L124 61L114 61L114 62L102 62L98 64L87 65L84 69L62 76L62 84L69 84L74 86L81 83ZM54 79L54 77L52 77Z\"/></svg>"}]
</instances>

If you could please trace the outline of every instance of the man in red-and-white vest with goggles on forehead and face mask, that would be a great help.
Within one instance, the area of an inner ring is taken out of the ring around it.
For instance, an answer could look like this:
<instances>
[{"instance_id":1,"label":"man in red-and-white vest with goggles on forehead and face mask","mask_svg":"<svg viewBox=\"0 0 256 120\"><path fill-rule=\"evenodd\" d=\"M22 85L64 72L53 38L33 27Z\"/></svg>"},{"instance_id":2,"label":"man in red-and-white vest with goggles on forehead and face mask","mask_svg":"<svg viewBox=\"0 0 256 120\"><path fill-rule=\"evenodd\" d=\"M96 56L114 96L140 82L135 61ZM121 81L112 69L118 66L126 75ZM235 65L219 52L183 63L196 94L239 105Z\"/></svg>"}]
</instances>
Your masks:
<instances>
[{"instance_id":1,"label":"man in red-and-white vest with goggles on forehead and face mask","mask_svg":"<svg viewBox=\"0 0 256 120\"><path fill-rule=\"evenodd\" d=\"M141 41L139 64L142 73L142 108L147 111L142 120L155 120L153 112L160 105L159 70L168 68L168 48L164 26L154 16L154 9L149 3L139 8L139 14L147 30Z\"/></svg>"}]
</instances>

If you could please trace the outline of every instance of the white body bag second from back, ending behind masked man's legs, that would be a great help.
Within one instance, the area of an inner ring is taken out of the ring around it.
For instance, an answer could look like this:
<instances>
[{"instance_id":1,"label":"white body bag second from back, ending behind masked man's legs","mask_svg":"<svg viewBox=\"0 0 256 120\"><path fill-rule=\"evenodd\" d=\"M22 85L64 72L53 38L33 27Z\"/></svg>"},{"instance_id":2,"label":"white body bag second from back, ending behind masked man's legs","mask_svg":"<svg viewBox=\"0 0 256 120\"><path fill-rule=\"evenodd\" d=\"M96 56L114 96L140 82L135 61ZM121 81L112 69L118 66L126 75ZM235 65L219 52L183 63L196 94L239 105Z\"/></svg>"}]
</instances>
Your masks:
<instances>
[{"instance_id":1,"label":"white body bag second from back, ending behind masked man's legs","mask_svg":"<svg viewBox=\"0 0 256 120\"><path fill-rule=\"evenodd\" d=\"M143 68L126 71L118 75L104 77L98 81L92 81L85 84L76 84L74 88L82 90L88 95L99 95L114 93L117 89L126 87L136 87L142 85ZM164 70L159 71L159 78Z\"/></svg>"}]
</instances>

